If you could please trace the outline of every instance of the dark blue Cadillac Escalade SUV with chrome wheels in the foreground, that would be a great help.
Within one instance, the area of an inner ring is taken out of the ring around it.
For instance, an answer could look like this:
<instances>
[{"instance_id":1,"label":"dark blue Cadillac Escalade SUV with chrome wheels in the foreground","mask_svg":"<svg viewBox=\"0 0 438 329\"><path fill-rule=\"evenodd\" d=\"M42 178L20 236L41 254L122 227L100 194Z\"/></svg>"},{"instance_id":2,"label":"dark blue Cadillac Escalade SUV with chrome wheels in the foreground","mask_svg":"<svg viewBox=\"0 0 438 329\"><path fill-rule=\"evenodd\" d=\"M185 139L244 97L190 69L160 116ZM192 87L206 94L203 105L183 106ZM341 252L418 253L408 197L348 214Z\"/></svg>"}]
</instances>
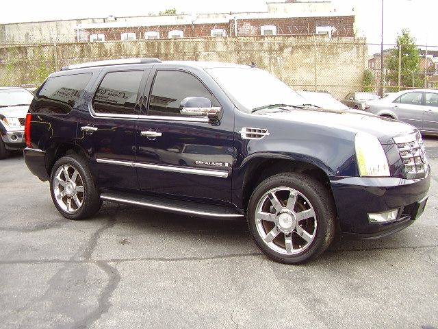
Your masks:
<instances>
[{"instance_id":1,"label":"dark blue Cadillac Escalade SUV with chrome wheels in the foreground","mask_svg":"<svg viewBox=\"0 0 438 329\"><path fill-rule=\"evenodd\" d=\"M37 90L25 162L68 219L103 201L246 218L261 251L282 263L322 254L336 228L370 239L413 223L430 184L418 130L305 103L253 66L70 65Z\"/></svg>"}]
</instances>

